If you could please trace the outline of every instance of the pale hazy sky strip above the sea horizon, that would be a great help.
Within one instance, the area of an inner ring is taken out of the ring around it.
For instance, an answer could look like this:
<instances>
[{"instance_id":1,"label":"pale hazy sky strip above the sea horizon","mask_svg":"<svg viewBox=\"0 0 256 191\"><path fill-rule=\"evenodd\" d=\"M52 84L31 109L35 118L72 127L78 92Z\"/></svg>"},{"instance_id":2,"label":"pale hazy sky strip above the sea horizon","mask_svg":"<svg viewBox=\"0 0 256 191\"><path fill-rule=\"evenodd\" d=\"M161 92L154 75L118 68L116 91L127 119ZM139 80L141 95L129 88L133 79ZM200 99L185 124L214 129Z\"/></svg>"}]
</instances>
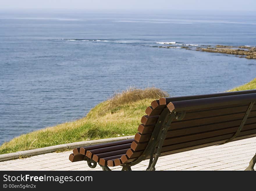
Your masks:
<instances>
[{"instance_id":1,"label":"pale hazy sky strip above the sea horizon","mask_svg":"<svg viewBox=\"0 0 256 191\"><path fill-rule=\"evenodd\" d=\"M0 9L256 11L256 0L0 0Z\"/></svg>"}]
</instances>

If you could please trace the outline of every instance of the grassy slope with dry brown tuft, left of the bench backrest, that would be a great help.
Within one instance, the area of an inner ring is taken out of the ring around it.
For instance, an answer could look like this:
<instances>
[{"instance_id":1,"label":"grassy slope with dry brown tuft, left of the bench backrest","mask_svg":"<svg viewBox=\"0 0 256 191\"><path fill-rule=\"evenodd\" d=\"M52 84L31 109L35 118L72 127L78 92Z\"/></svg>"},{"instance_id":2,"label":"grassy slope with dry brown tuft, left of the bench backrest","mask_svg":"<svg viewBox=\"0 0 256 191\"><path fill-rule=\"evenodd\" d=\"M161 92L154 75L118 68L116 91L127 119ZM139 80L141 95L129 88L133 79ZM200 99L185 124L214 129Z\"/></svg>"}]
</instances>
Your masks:
<instances>
[{"instance_id":1,"label":"grassy slope with dry brown tuft, left of the bench backrest","mask_svg":"<svg viewBox=\"0 0 256 191\"><path fill-rule=\"evenodd\" d=\"M85 140L135 135L150 103L166 92L157 88L131 88L99 103L84 118L33 131L0 146L0 154Z\"/></svg>"}]
</instances>

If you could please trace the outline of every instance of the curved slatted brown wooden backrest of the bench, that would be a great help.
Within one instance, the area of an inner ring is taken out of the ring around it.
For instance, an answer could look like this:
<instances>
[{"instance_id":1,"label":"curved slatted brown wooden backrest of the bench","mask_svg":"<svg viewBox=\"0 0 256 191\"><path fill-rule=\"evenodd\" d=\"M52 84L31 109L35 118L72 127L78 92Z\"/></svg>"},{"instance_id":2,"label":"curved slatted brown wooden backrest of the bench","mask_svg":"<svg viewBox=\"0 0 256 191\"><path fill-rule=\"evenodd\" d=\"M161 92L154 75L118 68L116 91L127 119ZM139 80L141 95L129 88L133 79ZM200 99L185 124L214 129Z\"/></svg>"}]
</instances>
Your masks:
<instances>
[{"instance_id":1,"label":"curved slatted brown wooden backrest of the bench","mask_svg":"<svg viewBox=\"0 0 256 191\"><path fill-rule=\"evenodd\" d=\"M160 138L164 139L160 148L163 156L254 137L255 102L256 90L155 100L146 109L131 149L121 156L120 163L149 158ZM166 123L168 129L161 137Z\"/></svg>"}]
</instances>

